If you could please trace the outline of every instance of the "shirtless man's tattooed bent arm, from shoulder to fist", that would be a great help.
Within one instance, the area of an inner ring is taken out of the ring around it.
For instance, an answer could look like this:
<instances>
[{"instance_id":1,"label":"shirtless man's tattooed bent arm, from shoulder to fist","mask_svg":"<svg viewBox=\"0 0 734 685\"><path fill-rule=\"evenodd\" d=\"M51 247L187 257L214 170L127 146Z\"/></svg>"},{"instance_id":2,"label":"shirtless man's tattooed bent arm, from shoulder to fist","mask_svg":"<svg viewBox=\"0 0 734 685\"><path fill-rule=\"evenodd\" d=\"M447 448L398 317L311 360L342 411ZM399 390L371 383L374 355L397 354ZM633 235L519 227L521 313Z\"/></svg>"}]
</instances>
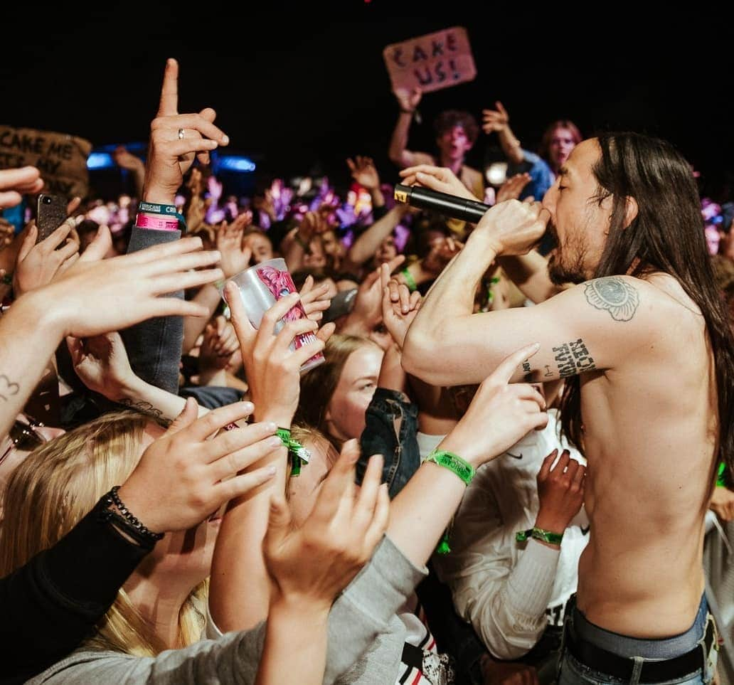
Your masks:
<instances>
[{"instance_id":1,"label":"shirtless man's tattooed bent arm, from shoulder to fist","mask_svg":"<svg viewBox=\"0 0 734 685\"><path fill-rule=\"evenodd\" d=\"M407 372L435 385L477 383L512 347L538 341L539 352L512 380L545 383L613 368L655 337L664 324L664 308L642 305L644 316L636 316L650 286L628 276L592 280L534 307L472 313L479 280L497 255L527 252L547 221L539 203L517 200L484 214L408 331Z\"/></svg>"}]
</instances>

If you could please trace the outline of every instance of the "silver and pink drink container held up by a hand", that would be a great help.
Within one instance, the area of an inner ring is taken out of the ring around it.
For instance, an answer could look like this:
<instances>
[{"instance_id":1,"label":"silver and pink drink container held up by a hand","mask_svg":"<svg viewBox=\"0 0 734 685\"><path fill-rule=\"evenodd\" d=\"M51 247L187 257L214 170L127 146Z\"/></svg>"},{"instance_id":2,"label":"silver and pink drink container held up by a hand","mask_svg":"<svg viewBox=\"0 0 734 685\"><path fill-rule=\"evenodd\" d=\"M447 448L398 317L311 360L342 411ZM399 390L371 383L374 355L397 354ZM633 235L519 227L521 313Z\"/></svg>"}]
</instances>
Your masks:
<instances>
[{"instance_id":1,"label":"silver and pink drink container held up by a hand","mask_svg":"<svg viewBox=\"0 0 734 685\"><path fill-rule=\"evenodd\" d=\"M283 258L268 259L260 264L255 264L254 267L240 272L229 280L236 283L244 304L244 311L247 312L247 318L250 319L250 323L255 328L260 327L265 312L277 300L292 292L297 292L291 274L288 272L288 267L286 267L286 260ZM280 333L287 322L305 318L306 312L303 305L298 302L286 313L286 316L283 316L283 319L277 322L275 333ZM308 345L314 340L316 340L316 336L313 333L302 333L294 338L291 349L299 349L299 347ZM321 363L324 363L324 355L318 352L301 366L301 371L308 371Z\"/></svg>"}]
</instances>

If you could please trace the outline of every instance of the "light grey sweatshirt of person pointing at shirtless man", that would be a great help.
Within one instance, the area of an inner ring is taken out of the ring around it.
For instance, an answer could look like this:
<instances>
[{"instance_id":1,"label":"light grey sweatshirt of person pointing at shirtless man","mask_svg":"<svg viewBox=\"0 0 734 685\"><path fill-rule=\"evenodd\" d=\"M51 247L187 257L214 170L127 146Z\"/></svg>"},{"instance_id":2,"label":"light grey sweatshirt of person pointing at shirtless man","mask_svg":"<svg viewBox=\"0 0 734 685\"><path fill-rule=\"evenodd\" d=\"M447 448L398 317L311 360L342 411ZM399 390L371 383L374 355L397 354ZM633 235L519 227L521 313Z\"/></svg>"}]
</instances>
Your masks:
<instances>
[{"instance_id":1,"label":"light grey sweatshirt of person pointing at shirtless man","mask_svg":"<svg viewBox=\"0 0 734 685\"><path fill-rule=\"evenodd\" d=\"M385 685L395 681L405 634L397 611L426 573L425 568L415 568L388 537L382 538L370 562L332 606L325 684ZM264 639L263 622L249 631L203 639L155 657L80 648L28 682L249 684L255 681Z\"/></svg>"}]
</instances>

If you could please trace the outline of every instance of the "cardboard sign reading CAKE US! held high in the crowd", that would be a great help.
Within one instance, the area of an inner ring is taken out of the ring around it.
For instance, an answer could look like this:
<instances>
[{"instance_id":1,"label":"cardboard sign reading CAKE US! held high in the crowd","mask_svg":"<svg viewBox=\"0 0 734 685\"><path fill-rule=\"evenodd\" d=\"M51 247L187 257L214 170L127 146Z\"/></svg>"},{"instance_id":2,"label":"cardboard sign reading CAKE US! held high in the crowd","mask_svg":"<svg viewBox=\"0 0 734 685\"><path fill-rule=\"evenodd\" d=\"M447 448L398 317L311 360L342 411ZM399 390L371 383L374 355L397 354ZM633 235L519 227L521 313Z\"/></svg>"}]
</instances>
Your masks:
<instances>
[{"instance_id":1,"label":"cardboard sign reading CAKE US! held high in the crowd","mask_svg":"<svg viewBox=\"0 0 734 685\"><path fill-rule=\"evenodd\" d=\"M393 90L424 93L471 81L476 66L463 26L393 43L382 51Z\"/></svg>"}]
</instances>

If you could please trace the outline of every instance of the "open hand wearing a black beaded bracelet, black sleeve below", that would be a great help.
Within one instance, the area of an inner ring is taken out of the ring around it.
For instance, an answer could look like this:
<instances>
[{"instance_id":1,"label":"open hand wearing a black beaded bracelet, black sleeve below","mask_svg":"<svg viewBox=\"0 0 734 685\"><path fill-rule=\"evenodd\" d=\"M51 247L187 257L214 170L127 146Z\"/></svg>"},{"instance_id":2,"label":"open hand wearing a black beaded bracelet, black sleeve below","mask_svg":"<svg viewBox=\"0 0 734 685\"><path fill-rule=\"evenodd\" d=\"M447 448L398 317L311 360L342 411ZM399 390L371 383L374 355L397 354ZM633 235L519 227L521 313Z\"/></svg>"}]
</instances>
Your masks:
<instances>
[{"instance_id":1,"label":"open hand wearing a black beaded bracelet, black sleeve below","mask_svg":"<svg viewBox=\"0 0 734 685\"><path fill-rule=\"evenodd\" d=\"M187 399L165 434L145 450L120 488L120 499L150 530L187 530L262 485L275 475L274 467L241 471L282 445L277 426L219 432L250 413L250 402L235 402L197 419L197 403Z\"/></svg>"}]
</instances>

